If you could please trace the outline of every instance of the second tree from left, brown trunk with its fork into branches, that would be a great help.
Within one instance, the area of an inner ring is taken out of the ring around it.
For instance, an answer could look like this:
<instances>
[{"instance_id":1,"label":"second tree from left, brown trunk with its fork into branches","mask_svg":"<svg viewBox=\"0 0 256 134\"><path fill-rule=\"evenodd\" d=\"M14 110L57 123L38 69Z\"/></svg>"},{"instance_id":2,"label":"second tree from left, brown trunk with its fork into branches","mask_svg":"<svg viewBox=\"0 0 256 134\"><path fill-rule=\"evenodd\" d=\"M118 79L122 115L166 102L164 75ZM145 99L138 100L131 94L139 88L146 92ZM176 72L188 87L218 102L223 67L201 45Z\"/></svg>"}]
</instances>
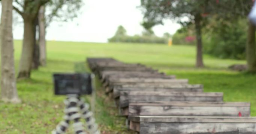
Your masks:
<instances>
[{"instance_id":1,"label":"second tree from left, brown trunk with its fork into branches","mask_svg":"<svg viewBox=\"0 0 256 134\"><path fill-rule=\"evenodd\" d=\"M22 16L24 21L24 35L18 78L30 77L35 38L34 21L37 18L39 8L49 1L50 0L15 0L16 4L19 5L19 8L22 8L23 11L19 10L16 6L13 6L13 9Z\"/></svg>"}]
</instances>

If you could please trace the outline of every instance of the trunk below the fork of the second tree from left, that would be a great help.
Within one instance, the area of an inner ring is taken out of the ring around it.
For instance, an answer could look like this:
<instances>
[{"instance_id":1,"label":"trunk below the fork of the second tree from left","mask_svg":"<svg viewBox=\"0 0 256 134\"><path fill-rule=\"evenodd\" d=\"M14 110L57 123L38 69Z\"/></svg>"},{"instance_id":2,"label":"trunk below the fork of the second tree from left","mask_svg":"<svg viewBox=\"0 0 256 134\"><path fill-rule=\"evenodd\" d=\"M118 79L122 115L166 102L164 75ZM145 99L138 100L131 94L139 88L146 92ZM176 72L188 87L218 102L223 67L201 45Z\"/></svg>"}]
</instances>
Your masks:
<instances>
[{"instance_id":1,"label":"trunk below the fork of the second tree from left","mask_svg":"<svg viewBox=\"0 0 256 134\"><path fill-rule=\"evenodd\" d=\"M18 78L30 78L34 50L34 18L24 16L24 36Z\"/></svg>"}]
</instances>

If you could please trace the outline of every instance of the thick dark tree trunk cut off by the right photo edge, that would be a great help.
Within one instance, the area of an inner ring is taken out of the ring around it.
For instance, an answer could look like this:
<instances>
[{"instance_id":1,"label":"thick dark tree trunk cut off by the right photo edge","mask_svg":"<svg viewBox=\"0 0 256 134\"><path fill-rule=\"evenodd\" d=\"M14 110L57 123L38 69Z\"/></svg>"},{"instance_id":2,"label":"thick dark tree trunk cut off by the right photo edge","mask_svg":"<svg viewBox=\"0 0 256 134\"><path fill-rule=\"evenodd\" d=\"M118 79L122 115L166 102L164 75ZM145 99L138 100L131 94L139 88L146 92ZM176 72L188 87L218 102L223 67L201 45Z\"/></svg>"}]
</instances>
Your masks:
<instances>
[{"instance_id":1,"label":"thick dark tree trunk cut off by the right photo edge","mask_svg":"<svg viewBox=\"0 0 256 134\"><path fill-rule=\"evenodd\" d=\"M256 47L255 47L255 25L249 21L248 37L246 45L246 59L248 71L256 72Z\"/></svg>"}]
</instances>

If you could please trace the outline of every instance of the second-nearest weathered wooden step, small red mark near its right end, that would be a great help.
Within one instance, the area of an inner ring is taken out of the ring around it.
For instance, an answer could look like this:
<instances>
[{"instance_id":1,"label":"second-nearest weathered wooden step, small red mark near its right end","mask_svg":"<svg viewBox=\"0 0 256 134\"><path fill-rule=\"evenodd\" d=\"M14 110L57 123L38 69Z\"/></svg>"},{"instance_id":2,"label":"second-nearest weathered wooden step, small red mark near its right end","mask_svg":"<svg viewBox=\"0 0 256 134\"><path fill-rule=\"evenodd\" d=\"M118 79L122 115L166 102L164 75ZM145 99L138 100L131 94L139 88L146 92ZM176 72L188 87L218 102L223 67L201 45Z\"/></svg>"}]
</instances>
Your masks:
<instances>
[{"instance_id":1,"label":"second-nearest weathered wooden step, small red mark near its right end","mask_svg":"<svg viewBox=\"0 0 256 134\"><path fill-rule=\"evenodd\" d=\"M125 115L249 117L247 102L129 102Z\"/></svg>"}]
</instances>

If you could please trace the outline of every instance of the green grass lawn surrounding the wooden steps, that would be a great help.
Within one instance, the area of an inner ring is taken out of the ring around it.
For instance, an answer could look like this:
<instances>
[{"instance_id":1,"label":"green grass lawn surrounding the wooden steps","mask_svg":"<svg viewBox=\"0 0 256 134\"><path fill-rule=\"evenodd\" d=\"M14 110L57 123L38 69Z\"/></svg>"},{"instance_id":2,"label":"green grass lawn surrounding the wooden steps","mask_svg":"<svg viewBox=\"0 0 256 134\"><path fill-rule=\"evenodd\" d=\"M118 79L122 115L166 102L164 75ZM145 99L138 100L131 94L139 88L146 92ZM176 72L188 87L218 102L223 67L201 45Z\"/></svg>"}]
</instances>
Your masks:
<instances>
[{"instance_id":1,"label":"green grass lawn surrounding the wooden steps","mask_svg":"<svg viewBox=\"0 0 256 134\"><path fill-rule=\"evenodd\" d=\"M205 92L224 92L225 101L251 102L256 116L256 75L229 71L242 60L223 60L204 55L206 68L194 68L195 47L147 44L100 44L82 42L47 42L47 66L34 70L29 80L19 80L21 104L0 102L0 134L46 134L61 121L64 96L53 95L52 73L73 72L74 64L86 57L113 57L127 63L142 63L190 83L204 84ZM18 70L21 41L15 41L15 63ZM96 120L105 134L129 134L124 118L118 116L114 102L104 95L97 82ZM90 97L85 98L88 101ZM71 134L71 132L68 132Z\"/></svg>"}]
</instances>

